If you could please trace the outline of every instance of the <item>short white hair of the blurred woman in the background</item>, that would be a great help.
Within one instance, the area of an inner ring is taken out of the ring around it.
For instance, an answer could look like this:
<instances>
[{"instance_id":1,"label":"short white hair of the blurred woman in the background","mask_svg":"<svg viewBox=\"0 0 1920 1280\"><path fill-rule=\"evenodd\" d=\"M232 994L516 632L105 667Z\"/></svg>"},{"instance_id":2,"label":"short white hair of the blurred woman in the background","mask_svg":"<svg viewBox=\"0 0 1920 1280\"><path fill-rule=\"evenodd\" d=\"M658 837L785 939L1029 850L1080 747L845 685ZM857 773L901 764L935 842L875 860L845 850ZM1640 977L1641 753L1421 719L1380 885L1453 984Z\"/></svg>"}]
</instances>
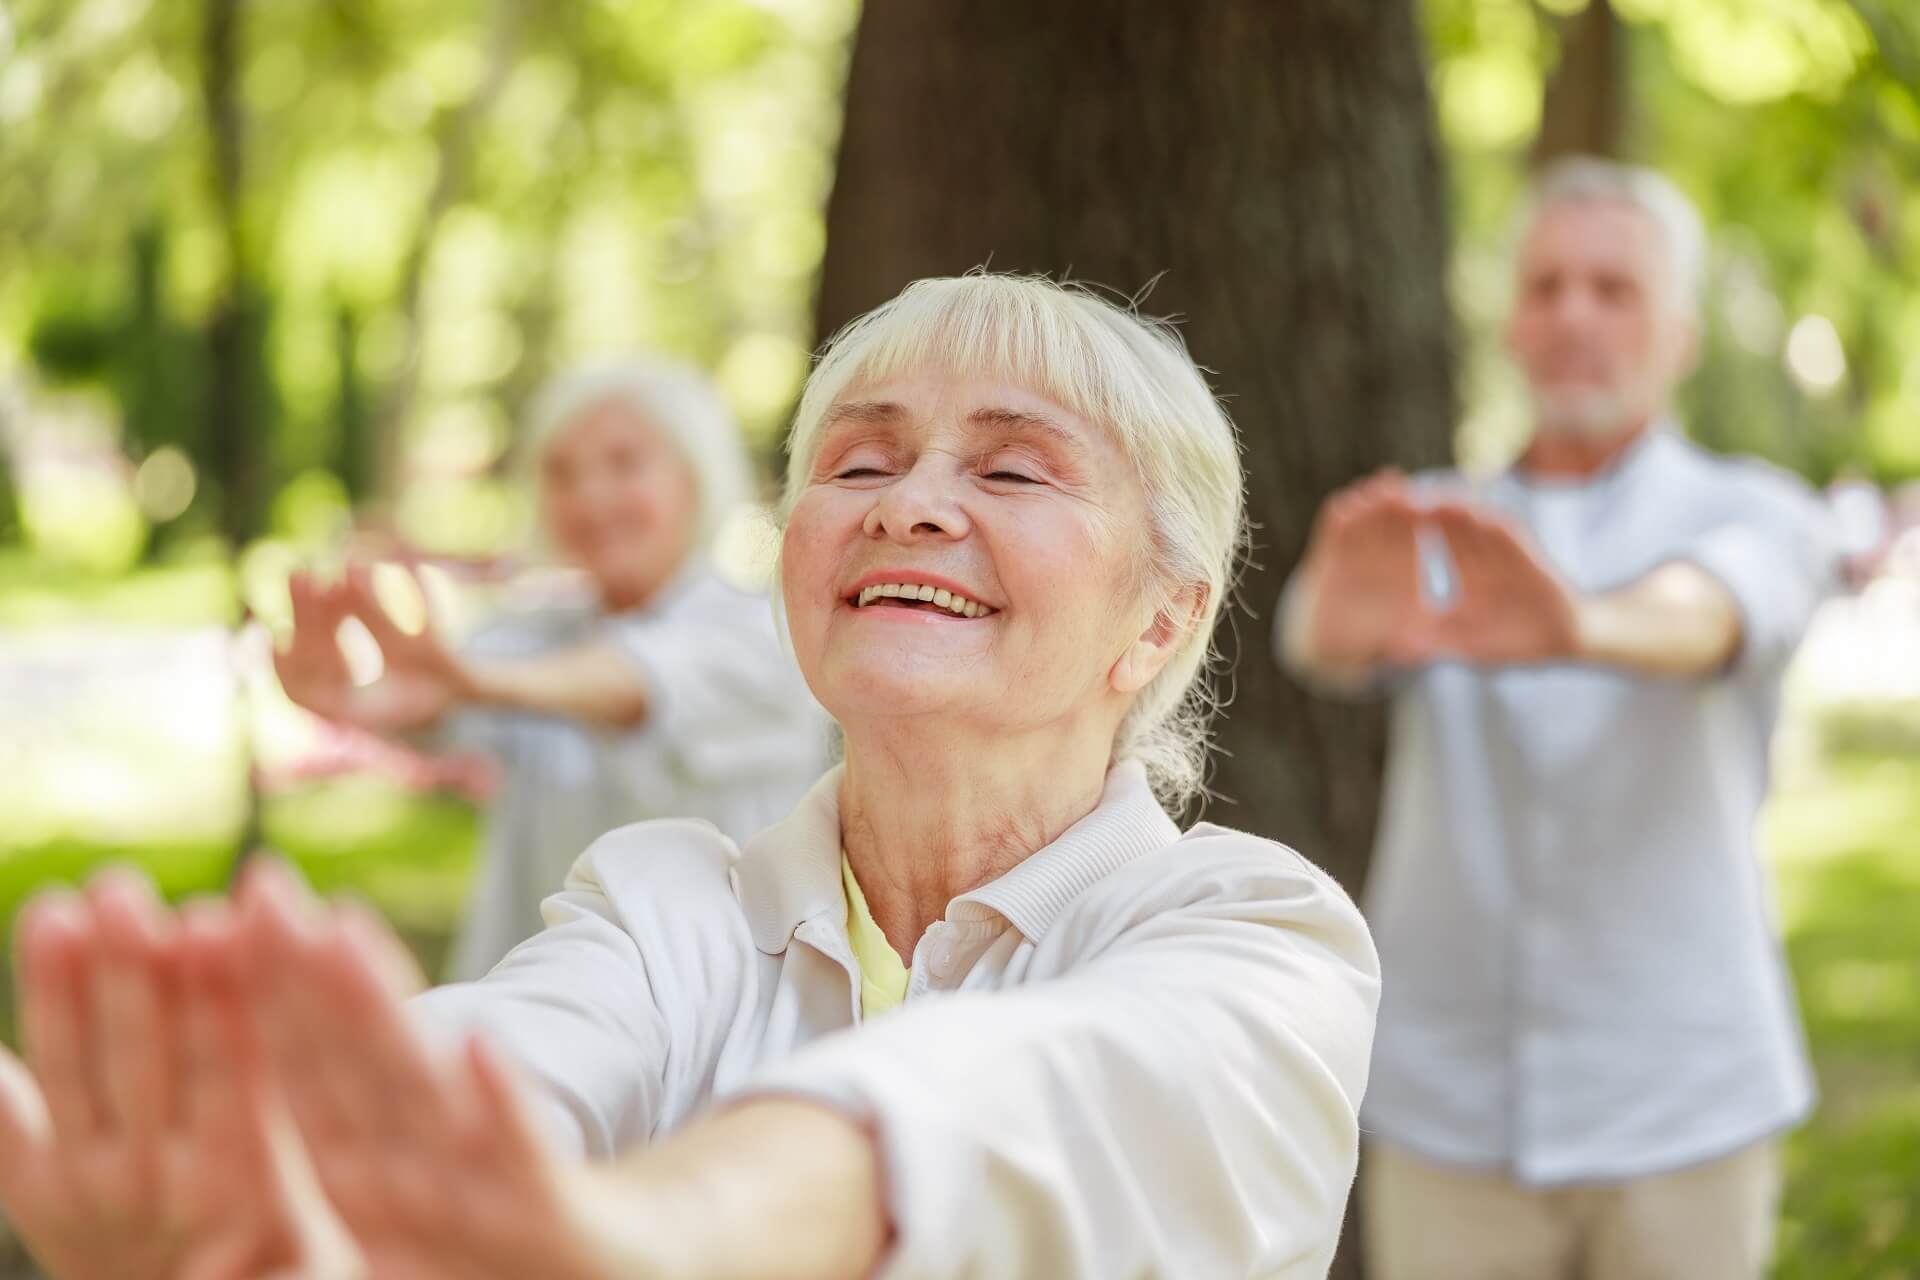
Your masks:
<instances>
[{"instance_id":1,"label":"short white hair of the blurred woman in the background","mask_svg":"<svg viewBox=\"0 0 1920 1280\"><path fill-rule=\"evenodd\" d=\"M626 359L574 368L547 382L526 415L524 459L536 480L553 438L607 403L632 409L685 457L699 495L693 547L708 551L726 518L753 499L753 462L720 391L691 365Z\"/></svg>"}]
</instances>

